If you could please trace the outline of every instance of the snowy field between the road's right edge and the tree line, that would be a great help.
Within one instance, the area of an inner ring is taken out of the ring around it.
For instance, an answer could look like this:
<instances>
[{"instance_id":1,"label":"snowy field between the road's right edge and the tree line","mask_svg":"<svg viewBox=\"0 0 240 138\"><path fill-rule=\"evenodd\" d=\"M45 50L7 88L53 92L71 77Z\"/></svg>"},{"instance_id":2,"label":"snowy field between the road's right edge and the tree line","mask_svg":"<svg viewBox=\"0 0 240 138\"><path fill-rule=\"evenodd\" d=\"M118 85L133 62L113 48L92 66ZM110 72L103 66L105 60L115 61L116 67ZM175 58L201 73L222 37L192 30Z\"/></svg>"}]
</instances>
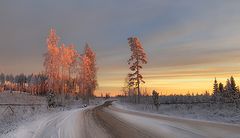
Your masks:
<instances>
[{"instance_id":1,"label":"snowy field between the road's right edge and the tree line","mask_svg":"<svg viewBox=\"0 0 240 138\"><path fill-rule=\"evenodd\" d=\"M150 104L117 102L117 106L124 109L174 117L240 124L240 109L232 104L162 104L158 111Z\"/></svg>"}]
</instances>

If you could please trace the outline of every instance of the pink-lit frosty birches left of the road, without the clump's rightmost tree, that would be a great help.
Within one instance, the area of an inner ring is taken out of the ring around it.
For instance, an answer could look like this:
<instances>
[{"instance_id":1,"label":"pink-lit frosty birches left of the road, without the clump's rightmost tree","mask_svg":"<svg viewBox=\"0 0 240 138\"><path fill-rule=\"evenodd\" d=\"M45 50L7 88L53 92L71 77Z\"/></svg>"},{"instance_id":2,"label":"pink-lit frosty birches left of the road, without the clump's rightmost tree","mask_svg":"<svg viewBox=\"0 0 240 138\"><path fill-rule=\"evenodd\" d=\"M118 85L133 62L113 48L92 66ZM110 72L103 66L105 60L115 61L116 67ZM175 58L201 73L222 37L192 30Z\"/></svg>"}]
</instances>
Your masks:
<instances>
[{"instance_id":1,"label":"pink-lit frosty birches left of the road, without the clump's rightmost tree","mask_svg":"<svg viewBox=\"0 0 240 138\"><path fill-rule=\"evenodd\" d=\"M59 40L56 31L51 29L47 38L48 51L44 55L44 67L49 90L66 93L74 88L72 77L76 79L78 53L72 44L59 46Z\"/></svg>"}]
</instances>

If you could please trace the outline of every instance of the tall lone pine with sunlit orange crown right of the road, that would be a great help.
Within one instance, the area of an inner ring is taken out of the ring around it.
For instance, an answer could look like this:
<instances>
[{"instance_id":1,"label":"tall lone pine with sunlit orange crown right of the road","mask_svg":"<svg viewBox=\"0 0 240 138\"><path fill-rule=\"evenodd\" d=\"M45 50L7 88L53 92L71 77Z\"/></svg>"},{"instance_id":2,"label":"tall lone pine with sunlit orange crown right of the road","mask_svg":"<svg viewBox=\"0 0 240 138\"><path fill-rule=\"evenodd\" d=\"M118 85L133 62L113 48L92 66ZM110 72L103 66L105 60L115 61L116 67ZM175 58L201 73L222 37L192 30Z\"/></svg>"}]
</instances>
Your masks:
<instances>
[{"instance_id":1,"label":"tall lone pine with sunlit orange crown right of the road","mask_svg":"<svg viewBox=\"0 0 240 138\"><path fill-rule=\"evenodd\" d=\"M140 83L145 83L143 81L143 76L140 73L143 64L147 64L147 57L140 40L137 37L129 37L128 44L132 52L128 64L130 65L130 70L132 73L129 73L129 85L137 89L138 93L138 103L140 103Z\"/></svg>"}]
</instances>

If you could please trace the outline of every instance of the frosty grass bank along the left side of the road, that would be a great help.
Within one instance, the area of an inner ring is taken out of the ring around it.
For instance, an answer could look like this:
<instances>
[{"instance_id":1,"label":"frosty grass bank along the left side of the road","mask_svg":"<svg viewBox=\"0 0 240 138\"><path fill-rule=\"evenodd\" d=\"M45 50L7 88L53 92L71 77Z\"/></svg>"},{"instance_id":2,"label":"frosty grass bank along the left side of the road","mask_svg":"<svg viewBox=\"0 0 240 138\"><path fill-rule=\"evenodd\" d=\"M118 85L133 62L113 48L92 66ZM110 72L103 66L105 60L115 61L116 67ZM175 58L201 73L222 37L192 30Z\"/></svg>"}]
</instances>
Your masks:
<instances>
[{"instance_id":1,"label":"frosty grass bank along the left side of the road","mask_svg":"<svg viewBox=\"0 0 240 138\"><path fill-rule=\"evenodd\" d=\"M102 99L91 100L90 104L101 103ZM1 104L35 104L34 106L11 106ZM0 93L0 137L6 137L12 131L25 123L42 119L46 116L59 113L63 110L80 108L82 100L74 97L64 101L64 107L47 108L47 100L42 96L33 96L24 92L1 92ZM13 112L11 111L13 110Z\"/></svg>"}]
</instances>

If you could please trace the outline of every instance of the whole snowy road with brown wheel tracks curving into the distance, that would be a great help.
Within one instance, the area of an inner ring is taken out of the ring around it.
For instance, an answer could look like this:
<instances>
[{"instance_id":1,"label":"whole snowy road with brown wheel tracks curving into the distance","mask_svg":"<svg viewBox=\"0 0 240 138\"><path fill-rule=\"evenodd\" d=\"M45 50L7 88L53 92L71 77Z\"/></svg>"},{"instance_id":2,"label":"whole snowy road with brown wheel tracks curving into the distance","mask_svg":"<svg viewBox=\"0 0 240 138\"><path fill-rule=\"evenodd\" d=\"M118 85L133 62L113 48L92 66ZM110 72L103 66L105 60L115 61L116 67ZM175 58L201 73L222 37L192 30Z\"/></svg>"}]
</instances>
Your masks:
<instances>
[{"instance_id":1,"label":"whole snowy road with brown wheel tracks curving into the distance","mask_svg":"<svg viewBox=\"0 0 240 138\"><path fill-rule=\"evenodd\" d=\"M15 133L20 138L240 138L240 126L120 109L111 102L48 116Z\"/></svg>"}]
</instances>

